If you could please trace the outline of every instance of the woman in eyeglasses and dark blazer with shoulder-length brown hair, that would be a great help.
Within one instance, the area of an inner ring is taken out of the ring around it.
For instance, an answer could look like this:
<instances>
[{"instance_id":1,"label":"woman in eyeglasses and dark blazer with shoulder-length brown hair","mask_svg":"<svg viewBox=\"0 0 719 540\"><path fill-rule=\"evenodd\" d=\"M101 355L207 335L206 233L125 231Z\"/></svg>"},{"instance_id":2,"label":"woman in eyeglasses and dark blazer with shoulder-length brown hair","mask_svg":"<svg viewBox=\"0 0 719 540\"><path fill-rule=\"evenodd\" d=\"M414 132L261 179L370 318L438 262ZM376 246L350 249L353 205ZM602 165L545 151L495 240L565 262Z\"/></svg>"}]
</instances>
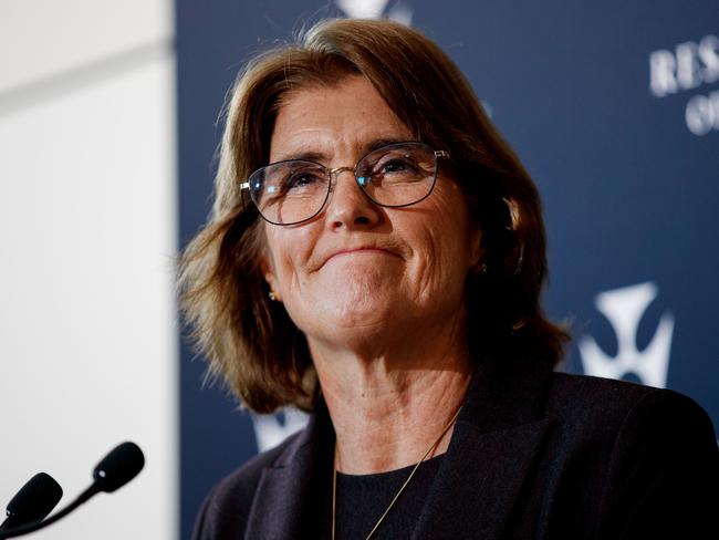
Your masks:
<instances>
[{"instance_id":1,"label":"woman in eyeglasses and dark blazer with shoulder-length brown hair","mask_svg":"<svg viewBox=\"0 0 719 540\"><path fill-rule=\"evenodd\" d=\"M181 263L199 345L249 408L312 417L213 489L196 538L716 527L698 405L553 372L535 187L418 32L325 21L254 60L216 187Z\"/></svg>"}]
</instances>

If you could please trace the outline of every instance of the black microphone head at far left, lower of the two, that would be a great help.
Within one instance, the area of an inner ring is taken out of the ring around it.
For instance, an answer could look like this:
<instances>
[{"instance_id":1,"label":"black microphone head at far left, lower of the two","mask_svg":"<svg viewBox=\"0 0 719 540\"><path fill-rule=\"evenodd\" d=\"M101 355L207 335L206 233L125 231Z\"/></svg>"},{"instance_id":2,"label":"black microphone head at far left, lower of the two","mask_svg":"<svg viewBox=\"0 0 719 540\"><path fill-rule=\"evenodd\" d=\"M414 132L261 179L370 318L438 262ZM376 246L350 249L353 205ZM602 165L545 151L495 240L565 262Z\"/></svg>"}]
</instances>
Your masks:
<instances>
[{"instance_id":1,"label":"black microphone head at far left, lower of the two","mask_svg":"<svg viewBox=\"0 0 719 540\"><path fill-rule=\"evenodd\" d=\"M62 488L46 472L38 472L8 502L7 519L0 525L0 532L42 520L62 498Z\"/></svg>"}]
</instances>

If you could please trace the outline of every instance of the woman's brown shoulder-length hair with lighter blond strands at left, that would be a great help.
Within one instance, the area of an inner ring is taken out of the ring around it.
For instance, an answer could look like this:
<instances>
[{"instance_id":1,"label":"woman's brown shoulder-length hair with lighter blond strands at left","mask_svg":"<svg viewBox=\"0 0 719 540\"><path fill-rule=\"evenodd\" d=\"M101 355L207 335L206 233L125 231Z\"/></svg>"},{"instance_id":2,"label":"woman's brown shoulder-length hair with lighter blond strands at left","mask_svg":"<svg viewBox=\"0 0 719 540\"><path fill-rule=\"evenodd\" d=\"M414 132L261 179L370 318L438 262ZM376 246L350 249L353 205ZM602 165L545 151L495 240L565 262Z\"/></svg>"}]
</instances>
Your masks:
<instances>
[{"instance_id":1,"label":"woman's brown shoulder-length hair with lighter blond strands at left","mask_svg":"<svg viewBox=\"0 0 719 540\"><path fill-rule=\"evenodd\" d=\"M449 153L476 226L484 267L466 283L467 339L477 361L521 351L555 365L567 339L540 305L545 236L536 188L492 126L455 63L433 41L389 21L323 21L294 44L247 65L229 94L212 215L179 264L180 302L209 375L249 408L312 409L320 393L308 344L284 308L268 298L259 269L261 218L239 189L269 160L283 96L365 76L423 141ZM470 247L468 246L468 249Z\"/></svg>"}]
</instances>

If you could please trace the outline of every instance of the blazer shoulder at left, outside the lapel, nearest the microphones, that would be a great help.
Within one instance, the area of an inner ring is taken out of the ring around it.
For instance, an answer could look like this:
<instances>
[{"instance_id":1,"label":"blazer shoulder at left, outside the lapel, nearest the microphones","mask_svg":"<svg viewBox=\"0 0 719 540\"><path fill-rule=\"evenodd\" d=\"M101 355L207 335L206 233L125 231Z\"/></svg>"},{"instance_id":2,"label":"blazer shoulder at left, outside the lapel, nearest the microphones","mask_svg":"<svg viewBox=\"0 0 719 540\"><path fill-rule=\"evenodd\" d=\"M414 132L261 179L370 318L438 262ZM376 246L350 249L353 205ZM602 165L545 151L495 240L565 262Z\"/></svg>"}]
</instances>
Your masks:
<instances>
[{"instance_id":1,"label":"blazer shoulder at left, outside the lapel, nearest the microphones","mask_svg":"<svg viewBox=\"0 0 719 540\"><path fill-rule=\"evenodd\" d=\"M291 450L301 437L299 432L279 446L258 454L220 480L208 494L195 522L195 540L243 538L262 471L272 467Z\"/></svg>"}]
</instances>

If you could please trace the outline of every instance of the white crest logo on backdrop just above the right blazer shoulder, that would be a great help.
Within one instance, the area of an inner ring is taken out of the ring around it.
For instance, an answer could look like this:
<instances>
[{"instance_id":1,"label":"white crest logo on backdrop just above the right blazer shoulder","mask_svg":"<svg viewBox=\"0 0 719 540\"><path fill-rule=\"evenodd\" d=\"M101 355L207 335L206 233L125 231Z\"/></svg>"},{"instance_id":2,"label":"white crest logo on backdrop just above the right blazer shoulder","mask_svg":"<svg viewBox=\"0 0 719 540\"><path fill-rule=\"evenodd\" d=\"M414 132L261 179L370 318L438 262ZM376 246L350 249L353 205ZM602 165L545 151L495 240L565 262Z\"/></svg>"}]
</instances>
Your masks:
<instances>
[{"instance_id":1,"label":"white crest logo on backdrop just above the right blazer shoulder","mask_svg":"<svg viewBox=\"0 0 719 540\"><path fill-rule=\"evenodd\" d=\"M653 282L602 292L594 299L596 309L612 324L617 338L617 354L607 355L591 335L579 342L584 373L608 378L635 375L639 382L664 388L667 383L669 352L674 335L674 315L664 313L659 325L644 351L637 350L636 338L642 316L657 295Z\"/></svg>"}]
</instances>

